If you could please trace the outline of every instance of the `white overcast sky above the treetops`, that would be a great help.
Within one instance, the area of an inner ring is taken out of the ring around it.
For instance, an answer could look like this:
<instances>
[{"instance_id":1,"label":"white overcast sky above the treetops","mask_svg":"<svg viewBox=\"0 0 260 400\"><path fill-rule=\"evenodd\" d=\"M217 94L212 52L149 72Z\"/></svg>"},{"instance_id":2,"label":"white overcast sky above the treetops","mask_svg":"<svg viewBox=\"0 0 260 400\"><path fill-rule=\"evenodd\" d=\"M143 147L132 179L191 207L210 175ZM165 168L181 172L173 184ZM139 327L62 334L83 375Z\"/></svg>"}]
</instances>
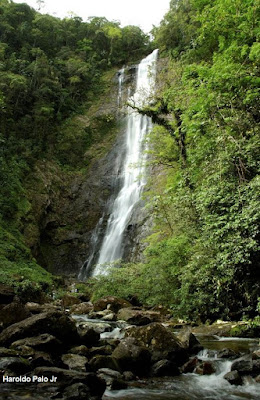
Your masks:
<instances>
[{"instance_id":1,"label":"white overcast sky above the treetops","mask_svg":"<svg viewBox=\"0 0 260 400\"><path fill-rule=\"evenodd\" d=\"M36 0L14 0L38 9ZM122 26L137 25L148 33L159 25L169 9L170 0L45 0L42 13L63 18L72 11L84 21L88 17L106 17Z\"/></svg>"}]
</instances>

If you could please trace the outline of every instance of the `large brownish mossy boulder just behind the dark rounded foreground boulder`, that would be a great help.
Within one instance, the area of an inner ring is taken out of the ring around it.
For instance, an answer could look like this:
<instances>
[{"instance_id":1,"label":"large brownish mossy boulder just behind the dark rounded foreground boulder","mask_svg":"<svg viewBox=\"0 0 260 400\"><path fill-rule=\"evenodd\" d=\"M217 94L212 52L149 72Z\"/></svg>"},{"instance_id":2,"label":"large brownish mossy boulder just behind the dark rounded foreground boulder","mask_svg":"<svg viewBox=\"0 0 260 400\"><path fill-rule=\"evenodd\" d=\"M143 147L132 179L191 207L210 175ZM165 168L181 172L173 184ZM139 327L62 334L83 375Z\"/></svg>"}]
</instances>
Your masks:
<instances>
[{"instance_id":1,"label":"large brownish mossy boulder just behind the dark rounded foreground boulder","mask_svg":"<svg viewBox=\"0 0 260 400\"><path fill-rule=\"evenodd\" d=\"M131 327L127 330L127 335L134 338L140 346L149 349L153 362L167 359L182 365L188 359L178 338L160 323Z\"/></svg>"}]
</instances>

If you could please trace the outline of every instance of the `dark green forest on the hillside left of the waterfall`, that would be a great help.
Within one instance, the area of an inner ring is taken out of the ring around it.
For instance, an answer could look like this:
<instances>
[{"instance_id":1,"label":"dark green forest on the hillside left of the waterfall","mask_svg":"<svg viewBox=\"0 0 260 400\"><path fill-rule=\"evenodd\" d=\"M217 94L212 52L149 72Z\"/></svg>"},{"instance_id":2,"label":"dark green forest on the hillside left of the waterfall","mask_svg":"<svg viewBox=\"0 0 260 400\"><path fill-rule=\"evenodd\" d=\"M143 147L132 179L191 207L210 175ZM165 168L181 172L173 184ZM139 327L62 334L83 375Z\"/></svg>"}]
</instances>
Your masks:
<instances>
[{"instance_id":1,"label":"dark green forest on the hillside left of the waterfall","mask_svg":"<svg viewBox=\"0 0 260 400\"><path fill-rule=\"evenodd\" d=\"M7 259L1 259L2 270L14 272L16 263L17 272L20 261L31 262L19 234L31 207L25 178L42 159L69 171L84 167L86 150L114 129L114 121L98 121L94 131L73 129L66 119L86 112L101 95L109 70L147 52L148 37L138 27L97 17L61 20L0 0L0 227L7 235L0 238ZM6 242L21 259L10 259Z\"/></svg>"}]
</instances>

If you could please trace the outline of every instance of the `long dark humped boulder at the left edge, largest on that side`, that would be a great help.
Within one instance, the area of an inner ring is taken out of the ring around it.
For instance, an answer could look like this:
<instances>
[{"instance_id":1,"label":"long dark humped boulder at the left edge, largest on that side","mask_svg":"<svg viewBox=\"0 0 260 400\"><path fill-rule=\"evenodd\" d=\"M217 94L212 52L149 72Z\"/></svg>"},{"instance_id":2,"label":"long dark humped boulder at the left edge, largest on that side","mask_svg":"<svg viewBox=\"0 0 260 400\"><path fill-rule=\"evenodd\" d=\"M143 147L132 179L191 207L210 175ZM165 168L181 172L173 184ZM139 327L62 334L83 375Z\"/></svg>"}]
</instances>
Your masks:
<instances>
[{"instance_id":1,"label":"long dark humped boulder at the left edge, largest on that side","mask_svg":"<svg viewBox=\"0 0 260 400\"><path fill-rule=\"evenodd\" d=\"M33 315L4 329L0 334L0 345L10 345L16 340L42 333L54 335L64 344L79 341L75 322L60 311L49 311Z\"/></svg>"}]
</instances>

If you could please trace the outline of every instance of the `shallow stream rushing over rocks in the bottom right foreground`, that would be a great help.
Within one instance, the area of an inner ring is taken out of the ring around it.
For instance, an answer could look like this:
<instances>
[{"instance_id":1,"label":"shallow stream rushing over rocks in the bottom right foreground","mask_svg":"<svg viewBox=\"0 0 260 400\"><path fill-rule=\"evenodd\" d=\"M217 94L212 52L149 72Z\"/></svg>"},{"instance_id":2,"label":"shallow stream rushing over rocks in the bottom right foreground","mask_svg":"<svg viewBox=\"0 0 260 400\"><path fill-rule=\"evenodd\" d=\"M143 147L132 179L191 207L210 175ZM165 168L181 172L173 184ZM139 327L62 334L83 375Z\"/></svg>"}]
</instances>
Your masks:
<instances>
[{"instance_id":1,"label":"shallow stream rushing over rocks in the bottom right foreground","mask_svg":"<svg viewBox=\"0 0 260 400\"><path fill-rule=\"evenodd\" d=\"M223 377L230 371L232 361L217 358L217 351L224 348L237 353L248 353L258 346L258 339L199 336L204 346L198 354L200 360L212 361L216 373L198 375L182 374L169 378L152 378L135 382L126 390L106 391L103 400L242 400L260 399L260 383L245 377L243 386L234 386Z\"/></svg>"}]
</instances>

